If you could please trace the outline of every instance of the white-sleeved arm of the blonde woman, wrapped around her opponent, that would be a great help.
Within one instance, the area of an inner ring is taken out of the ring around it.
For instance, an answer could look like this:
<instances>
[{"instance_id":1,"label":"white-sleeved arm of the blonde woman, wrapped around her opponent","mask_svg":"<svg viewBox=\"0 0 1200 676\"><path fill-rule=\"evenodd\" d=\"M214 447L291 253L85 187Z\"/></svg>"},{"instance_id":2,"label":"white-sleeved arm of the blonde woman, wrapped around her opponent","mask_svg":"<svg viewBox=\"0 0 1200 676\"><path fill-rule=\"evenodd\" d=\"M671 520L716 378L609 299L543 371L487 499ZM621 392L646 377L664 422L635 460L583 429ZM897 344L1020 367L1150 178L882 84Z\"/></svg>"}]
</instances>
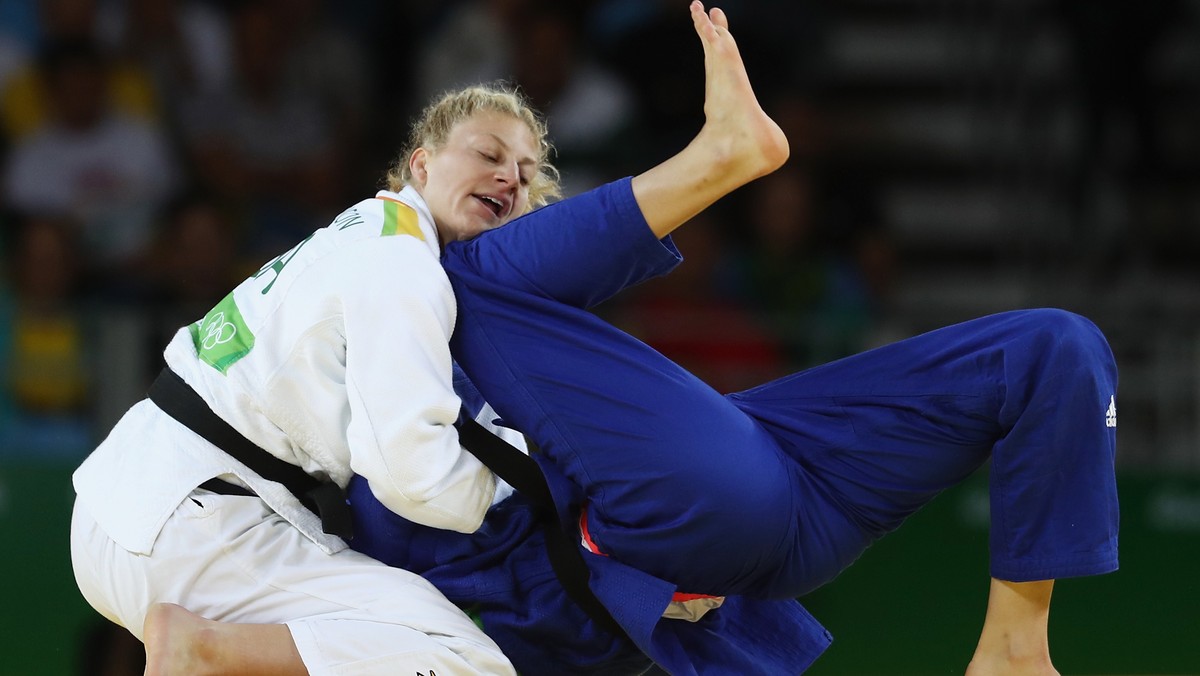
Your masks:
<instances>
[{"instance_id":1,"label":"white-sleeved arm of the blonde woman, wrapped around her opponent","mask_svg":"<svg viewBox=\"0 0 1200 676\"><path fill-rule=\"evenodd\" d=\"M343 299L350 468L396 514L474 532L496 478L454 427L461 402L451 387L450 282L415 239L353 249Z\"/></svg>"}]
</instances>

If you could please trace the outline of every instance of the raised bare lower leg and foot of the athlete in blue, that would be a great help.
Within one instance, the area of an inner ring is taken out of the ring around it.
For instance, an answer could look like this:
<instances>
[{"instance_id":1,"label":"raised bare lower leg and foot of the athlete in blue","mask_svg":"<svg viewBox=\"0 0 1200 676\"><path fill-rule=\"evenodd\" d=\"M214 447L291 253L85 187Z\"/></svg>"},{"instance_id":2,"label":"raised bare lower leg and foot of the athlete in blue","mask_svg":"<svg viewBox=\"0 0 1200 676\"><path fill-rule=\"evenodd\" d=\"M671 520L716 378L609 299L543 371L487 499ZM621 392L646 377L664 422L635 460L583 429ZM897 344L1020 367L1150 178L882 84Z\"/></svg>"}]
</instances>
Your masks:
<instances>
[{"instance_id":1,"label":"raised bare lower leg and foot of the athlete in blue","mask_svg":"<svg viewBox=\"0 0 1200 676\"><path fill-rule=\"evenodd\" d=\"M634 177L647 223L665 237L721 197L781 167L787 137L755 97L730 23L697 0L691 19L704 47L704 126L682 151Z\"/></svg>"}]
</instances>

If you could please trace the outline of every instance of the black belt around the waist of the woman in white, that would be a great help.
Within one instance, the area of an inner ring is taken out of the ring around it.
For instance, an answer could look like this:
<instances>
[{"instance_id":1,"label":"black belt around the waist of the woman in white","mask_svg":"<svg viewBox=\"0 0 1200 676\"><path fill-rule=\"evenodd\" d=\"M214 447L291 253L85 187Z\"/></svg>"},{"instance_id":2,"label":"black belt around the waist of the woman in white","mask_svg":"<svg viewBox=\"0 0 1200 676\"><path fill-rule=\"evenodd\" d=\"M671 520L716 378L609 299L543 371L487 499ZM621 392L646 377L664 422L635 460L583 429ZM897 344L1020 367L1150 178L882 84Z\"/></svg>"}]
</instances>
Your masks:
<instances>
[{"instance_id":1,"label":"black belt around the waist of the woman in white","mask_svg":"<svg viewBox=\"0 0 1200 676\"><path fill-rule=\"evenodd\" d=\"M308 475L300 467L280 460L241 436L241 432L214 413L204 399L178 373L163 369L150 385L149 395L150 401L164 413L253 469L259 477L283 484L301 504L320 518L320 527L325 533L347 540L354 537L350 505L341 486ZM226 485L233 486L233 484Z\"/></svg>"}]
</instances>

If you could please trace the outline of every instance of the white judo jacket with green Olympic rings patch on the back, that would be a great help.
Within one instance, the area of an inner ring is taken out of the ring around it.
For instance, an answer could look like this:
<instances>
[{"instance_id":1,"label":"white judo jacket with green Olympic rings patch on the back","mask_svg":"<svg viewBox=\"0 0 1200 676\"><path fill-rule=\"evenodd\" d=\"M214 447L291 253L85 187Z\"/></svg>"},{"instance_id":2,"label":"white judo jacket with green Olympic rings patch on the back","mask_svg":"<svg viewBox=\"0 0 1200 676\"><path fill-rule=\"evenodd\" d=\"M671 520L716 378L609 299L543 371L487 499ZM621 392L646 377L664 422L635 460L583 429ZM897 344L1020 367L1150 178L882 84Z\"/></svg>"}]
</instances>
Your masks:
<instances>
[{"instance_id":1,"label":"white judo jacket with green Olympic rings patch on the back","mask_svg":"<svg viewBox=\"0 0 1200 676\"><path fill-rule=\"evenodd\" d=\"M343 211L175 334L167 364L271 454L427 526L473 532L497 496L458 444L449 340L455 299L432 216L412 189ZM481 423L494 418L490 407ZM488 425L493 431L494 426ZM520 435L504 431L520 444ZM134 405L76 471L78 499L122 548L148 555L199 484L234 474L325 551L316 515L161 412ZM506 489L506 486L504 486Z\"/></svg>"}]
</instances>

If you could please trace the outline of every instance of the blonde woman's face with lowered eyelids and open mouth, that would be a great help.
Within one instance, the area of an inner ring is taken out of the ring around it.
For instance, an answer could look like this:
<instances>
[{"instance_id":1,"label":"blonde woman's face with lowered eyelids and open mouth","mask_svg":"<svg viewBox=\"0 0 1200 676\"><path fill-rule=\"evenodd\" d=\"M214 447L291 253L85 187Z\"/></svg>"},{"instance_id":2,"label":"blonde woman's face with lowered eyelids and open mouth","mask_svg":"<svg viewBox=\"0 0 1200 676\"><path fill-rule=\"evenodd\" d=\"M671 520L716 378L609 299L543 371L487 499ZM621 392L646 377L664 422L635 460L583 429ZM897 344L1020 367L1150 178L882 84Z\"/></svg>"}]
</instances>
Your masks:
<instances>
[{"instance_id":1,"label":"blonde woman's face with lowered eyelids and open mouth","mask_svg":"<svg viewBox=\"0 0 1200 676\"><path fill-rule=\"evenodd\" d=\"M492 110L458 122L436 150L409 157L443 243L470 239L524 214L539 145L521 120Z\"/></svg>"}]
</instances>

